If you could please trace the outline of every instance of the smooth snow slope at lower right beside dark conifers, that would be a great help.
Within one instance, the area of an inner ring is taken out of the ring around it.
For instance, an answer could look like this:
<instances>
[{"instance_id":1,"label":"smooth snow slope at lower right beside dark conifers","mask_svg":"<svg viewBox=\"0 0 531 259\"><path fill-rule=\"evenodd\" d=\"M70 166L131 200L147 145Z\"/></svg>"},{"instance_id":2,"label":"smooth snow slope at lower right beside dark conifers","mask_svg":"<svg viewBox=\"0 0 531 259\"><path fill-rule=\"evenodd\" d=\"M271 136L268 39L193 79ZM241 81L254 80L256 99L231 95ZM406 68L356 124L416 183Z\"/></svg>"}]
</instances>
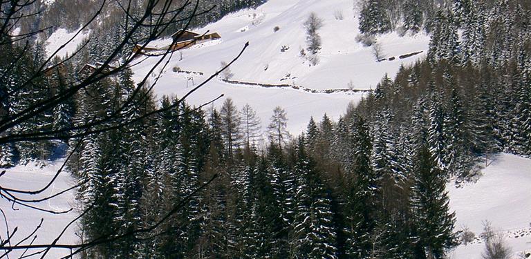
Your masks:
<instances>
[{"instance_id":1,"label":"smooth snow slope at lower right beside dark conifers","mask_svg":"<svg viewBox=\"0 0 531 259\"><path fill-rule=\"evenodd\" d=\"M456 211L456 230L468 227L479 236L482 222L488 220L512 248L512 258L531 252L531 160L502 153L481 172L476 183L447 186L451 209ZM458 247L451 258L481 259L484 247L477 238Z\"/></svg>"}]
</instances>

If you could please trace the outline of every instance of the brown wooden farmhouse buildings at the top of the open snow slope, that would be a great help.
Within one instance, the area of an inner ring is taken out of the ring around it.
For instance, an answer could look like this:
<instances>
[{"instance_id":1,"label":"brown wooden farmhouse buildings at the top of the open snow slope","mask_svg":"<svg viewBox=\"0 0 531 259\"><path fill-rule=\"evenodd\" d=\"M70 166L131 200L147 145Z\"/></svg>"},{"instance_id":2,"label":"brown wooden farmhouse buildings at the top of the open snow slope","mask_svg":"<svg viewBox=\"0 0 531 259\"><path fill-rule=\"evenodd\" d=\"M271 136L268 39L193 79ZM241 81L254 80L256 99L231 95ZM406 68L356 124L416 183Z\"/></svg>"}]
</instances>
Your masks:
<instances>
[{"instance_id":1,"label":"brown wooden farmhouse buildings at the top of the open snow slope","mask_svg":"<svg viewBox=\"0 0 531 259\"><path fill-rule=\"evenodd\" d=\"M171 39L173 40L173 44L170 44L169 46L165 46L165 47L160 47L160 48L158 46L143 47L140 44L136 44L133 47L133 52L134 53L140 52L141 54L144 54L146 52L168 50L168 49L172 51L182 50L182 49L194 46L196 44L201 44L205 41L221 39L221 36L217 32L200 35L196 32L191 32L189 30L178 30L173 35L171 35Z\"/></svg>"}]
</instances>

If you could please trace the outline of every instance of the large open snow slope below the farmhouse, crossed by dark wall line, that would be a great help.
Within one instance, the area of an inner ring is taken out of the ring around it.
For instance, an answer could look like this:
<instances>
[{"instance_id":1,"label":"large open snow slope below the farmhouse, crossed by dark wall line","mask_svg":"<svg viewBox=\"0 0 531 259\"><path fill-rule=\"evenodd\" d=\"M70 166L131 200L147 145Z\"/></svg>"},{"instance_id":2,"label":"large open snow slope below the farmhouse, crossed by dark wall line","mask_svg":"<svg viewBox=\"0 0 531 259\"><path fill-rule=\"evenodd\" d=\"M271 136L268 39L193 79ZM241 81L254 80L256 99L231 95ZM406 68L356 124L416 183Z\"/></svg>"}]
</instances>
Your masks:
<instances>
[{"instance_id":1,"label":"large open snow slope below the farmhouse, crossed by dark wall line","mask_svg":"<svg viewBox=\"0 0 531 259\"><path fill-rule=\"evenodd\" d=\"M395 33L382 35L378 41L386 57L395 57L393 61L377 62L372 50L357 43L358 21L353 10L352 0L270 0L256 10L242 10L209 24L196 32L218 32L221 39L175 53L169 66L162 71L162 78L155 92L183 96L186 88L194 79L197 84L220 68L221 61L232 60L249 41L249 48L243 56L231 66L232 80L261 84L289 84L311 89L374 88L378 81L389 74L393 77L400 64L411 64L425 57L429 37L399 37ZM309 66L309 62L299 57L299 50L306 48L304 21L311 12L323 20L324 26L318 31L322 37L320 62ZM335 19L335 12L342 12L344 19ZM273 28L279 27L277 32ZM281 52L282 46L289 50ZM420 55L400 59L399 55L423 51ZM138 81L156 61L149 58L135 66L135 79ZM190 75L174 73L172 68L204 73ZM158 71L157 71L158 72ZM264 89L227 84L215 79L188 100L192 104L202 104L224 93L232 97L239 107L249 103L258 111L263 126L266 126L275 106L286 108L288 130L299 133L304 130L310 116L322 117L327 113L334 119L344 113L349 102L357 102L361 94L335 93L315 94L290 88ZM221 105L223 99L216 102Z\"/></svg>"}]
</instances>

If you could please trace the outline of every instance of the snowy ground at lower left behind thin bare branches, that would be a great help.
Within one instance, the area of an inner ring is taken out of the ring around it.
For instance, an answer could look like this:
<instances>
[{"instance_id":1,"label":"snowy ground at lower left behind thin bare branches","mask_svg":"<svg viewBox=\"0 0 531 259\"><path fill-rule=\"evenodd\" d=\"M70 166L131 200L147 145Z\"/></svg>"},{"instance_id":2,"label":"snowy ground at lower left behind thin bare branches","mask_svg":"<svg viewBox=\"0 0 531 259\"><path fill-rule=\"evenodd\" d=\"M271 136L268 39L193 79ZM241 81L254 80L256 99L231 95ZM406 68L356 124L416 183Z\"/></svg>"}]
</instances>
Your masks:
<instances>
[{"instance_id":1,"label":"snowy ground at lower left behind thin bare branches","mask_svg":"<svg viewBox=\"0 0 531 259\"><path fill-rule=\"evenodd\" d=\"M57 170L62 165L64 160L57 160L56 162L48 162L47 166L41 168L35 163L30 163L26 166L15 166L12 169L6 169L6 174L0 177L0 185L10 189L19 189L24 191L36 191L48 184L50 180L53 179L53 176ZM3 171L1 169L0 171ZM73 186L73 178L67 172L63 171L59 174L57 180L46 189L43 193L39 195L18 195L18 198L22 199L38 199L49 197L60 191ZM15 193L13 193L15 194ZM53 211L66 211L75 206L75 191L68 191L62 195L59 195L51 200L44 202L39 202L35 207L41 209L53 210ZM18 228L17 232L11 240L11 244L17 244L20 240L26 238L35 228L39 225L39 222L44 219L42 227L35 233L33 236L37 236L33 244L50 244L61 231L66 227L66 225L75 219L78 213L73 210L65 214L53 215L50 213L37 211L35 209L29 209L27 207L22 207L19 204L12 204L8 202L5 198L0 198L0 209L6 213L7 224L9 227L10 234L13 233L15 227ZM0 215L0 237L6 239L6 222L3 219L3 216ZM79 239L75 236L75 231L77 230L77 224L72 224L71 227L66 229L66 232L59 239L57 244L77 244ZM33 236L31 236L26 242L22 244L30 244ZM27 251L26 255L34 253L38 250ZM5 251L0 251L0 256L3 255ZM12 251L9 253L9 258L19 258L23 251ZM68 256L69 251L65 249L52 249L46 256L46 258L62 258L63 256ZM41 258L40 255L31 256L30 258Z\"/></svg>"}]
</instances>

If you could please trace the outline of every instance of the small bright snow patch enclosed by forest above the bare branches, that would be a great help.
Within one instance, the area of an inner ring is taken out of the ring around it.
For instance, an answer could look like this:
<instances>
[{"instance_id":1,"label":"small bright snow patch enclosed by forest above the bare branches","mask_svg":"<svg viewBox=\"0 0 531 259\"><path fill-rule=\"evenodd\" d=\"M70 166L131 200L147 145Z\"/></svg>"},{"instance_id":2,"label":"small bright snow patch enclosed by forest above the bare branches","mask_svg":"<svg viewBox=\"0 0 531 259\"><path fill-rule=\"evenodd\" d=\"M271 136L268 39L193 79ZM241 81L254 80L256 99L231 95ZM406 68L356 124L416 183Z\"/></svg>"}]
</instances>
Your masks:
<instances>
[{"instance_id":1,"label":"small bright snow patch enclosed by forest above the bare branches","mask_svg":"<svg viewBox=\"0 0 531 259\"><path fill-rule=\"evenodd\" d=\"M57 51L58 57L66 57L66 55L72 55L73 52L77 49L77 46L80 45L88 35L90 35L90 31L82 31L80 34L76 36L76 33L79 32L79 30L75 30L73 32L68 32L68 30L64 28L59 28L55 30L55 32L46 39L46 55L50 57L53 55L53 53L56 50L59 50L63 44L66 44L70 39L73 38L72 41L70 41L64 48Z\"/></svg>"}]
</instances>

